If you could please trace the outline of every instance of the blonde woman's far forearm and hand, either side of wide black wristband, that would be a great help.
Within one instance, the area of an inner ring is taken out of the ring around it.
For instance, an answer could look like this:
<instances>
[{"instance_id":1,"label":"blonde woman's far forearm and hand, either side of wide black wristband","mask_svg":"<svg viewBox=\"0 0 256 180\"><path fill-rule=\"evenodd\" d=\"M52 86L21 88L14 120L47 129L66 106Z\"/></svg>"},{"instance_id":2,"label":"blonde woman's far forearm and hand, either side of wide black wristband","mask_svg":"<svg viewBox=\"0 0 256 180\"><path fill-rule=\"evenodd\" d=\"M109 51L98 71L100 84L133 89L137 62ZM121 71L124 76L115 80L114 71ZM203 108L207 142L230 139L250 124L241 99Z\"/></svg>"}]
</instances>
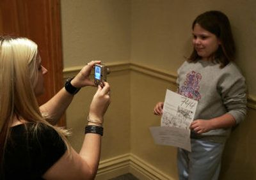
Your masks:
<instances>
[{"instance_id":1,"label":"blonde woman's far forearm and hand, either side of wide black wristband","mask_svg":"<svg viewBox=\"0 0 256 180\"><path fill-rule=\"evenodd\" d=\"M74 87L81 88L85 86L95 86L95 84L90 81L90 73L95 64L100 63L100 61L91 61L71 80L71 84ZM47 101L44 105L40 106L40 111L42 114L46 115L47 121L51 124L56 124L61 116L64 114L68 105L70 105L73 100L74 95L68 93L63 87L51 100Z\"/></svg>"}]
</instances>

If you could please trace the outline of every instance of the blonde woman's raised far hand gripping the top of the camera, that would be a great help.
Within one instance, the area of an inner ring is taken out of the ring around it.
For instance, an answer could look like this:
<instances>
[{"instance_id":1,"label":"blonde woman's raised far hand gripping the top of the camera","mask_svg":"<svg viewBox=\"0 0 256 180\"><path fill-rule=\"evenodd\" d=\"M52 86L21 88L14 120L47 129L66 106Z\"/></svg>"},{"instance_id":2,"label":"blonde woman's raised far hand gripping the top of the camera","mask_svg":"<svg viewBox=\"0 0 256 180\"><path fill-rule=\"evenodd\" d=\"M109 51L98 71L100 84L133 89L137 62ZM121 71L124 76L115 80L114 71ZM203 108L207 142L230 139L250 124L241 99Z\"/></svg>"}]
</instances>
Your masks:
<instances>
[{"instance_id":1,"label":"blonde woman's raised far hand gripping the top of the camera","mask_svg":"<svg viewBox=\"0 0 256 180\"><path fill-rule=\"evenodd\" d=\"M84 86L95 86L94 82L90 80L90 73L95 64L100 64L100 61L91 61L87 63L86 66L72 79L71 84L74 87L84 87Z\"/></svg>"}]
</instances>

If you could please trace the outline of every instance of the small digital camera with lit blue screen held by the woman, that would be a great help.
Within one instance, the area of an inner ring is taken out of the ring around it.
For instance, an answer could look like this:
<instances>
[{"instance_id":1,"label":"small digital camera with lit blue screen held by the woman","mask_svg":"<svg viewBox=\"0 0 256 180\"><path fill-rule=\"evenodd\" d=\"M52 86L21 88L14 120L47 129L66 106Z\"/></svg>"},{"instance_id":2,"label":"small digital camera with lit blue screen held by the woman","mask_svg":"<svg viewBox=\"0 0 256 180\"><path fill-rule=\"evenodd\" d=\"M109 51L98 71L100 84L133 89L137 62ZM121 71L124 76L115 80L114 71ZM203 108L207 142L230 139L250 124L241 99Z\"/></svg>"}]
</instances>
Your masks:
<instances>
[{"instance_id":1,"label":"small digital camera with lit blue screen held by the woman","mask_svg":"<svg viewBox=\"0 0 256 180\"><path fill-rule=\"evenodd\" d=\"M94 66L94 83L102 85L103 82L107 81L107 75L109 74L109 68L104 64L95 64Z\"/></svg>"}]
</instances>

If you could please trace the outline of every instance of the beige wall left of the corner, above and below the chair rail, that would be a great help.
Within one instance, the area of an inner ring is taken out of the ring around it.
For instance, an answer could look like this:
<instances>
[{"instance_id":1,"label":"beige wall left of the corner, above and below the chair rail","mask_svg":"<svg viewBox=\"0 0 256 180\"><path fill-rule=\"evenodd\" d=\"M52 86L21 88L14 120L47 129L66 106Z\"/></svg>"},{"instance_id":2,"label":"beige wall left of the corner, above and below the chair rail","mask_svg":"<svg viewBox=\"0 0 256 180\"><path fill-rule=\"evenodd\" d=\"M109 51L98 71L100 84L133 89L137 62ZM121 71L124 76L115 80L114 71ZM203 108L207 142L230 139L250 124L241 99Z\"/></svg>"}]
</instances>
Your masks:
<instances>
[{"instance_id":1,"label":"beige wall left of the corner, above and below the chair rail","mask_svg":"<svg viewBox=\"0 0 256 180\"><path fill-rule=\"evenodd\" d=\"M130 11L129 1L61 1L65 75L76 74L81 66L95 59L106 64L129 62ZM105 116L102 160L130 151L130 73L118 67L111 71L108 79L112 103ZM95 90L82 89L67 110L67 126L73 131L70 142L77 151Z\"/></svg>"}]
</instances>

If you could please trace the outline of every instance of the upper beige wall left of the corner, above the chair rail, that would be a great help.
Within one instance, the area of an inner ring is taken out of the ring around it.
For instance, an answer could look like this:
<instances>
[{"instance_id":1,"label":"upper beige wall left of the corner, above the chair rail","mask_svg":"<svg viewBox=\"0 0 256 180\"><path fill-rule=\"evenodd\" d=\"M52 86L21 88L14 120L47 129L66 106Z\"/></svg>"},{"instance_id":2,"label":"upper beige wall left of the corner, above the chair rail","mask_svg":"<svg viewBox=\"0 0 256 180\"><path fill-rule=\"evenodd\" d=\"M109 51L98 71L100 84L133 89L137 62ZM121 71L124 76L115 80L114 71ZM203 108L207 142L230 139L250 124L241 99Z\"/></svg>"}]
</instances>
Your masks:
<instances>
[{"instance_id":1,"label":"upper beige wall left of the corner, above the chair rail","mask_svg":"<svg viewBox=\"0 0 256 180\"><path fill-rule=\"evenodd\" d=\"M64 67L131 59L131 7L125 0L61 0Z\"/></svg>"}]
</instances>

